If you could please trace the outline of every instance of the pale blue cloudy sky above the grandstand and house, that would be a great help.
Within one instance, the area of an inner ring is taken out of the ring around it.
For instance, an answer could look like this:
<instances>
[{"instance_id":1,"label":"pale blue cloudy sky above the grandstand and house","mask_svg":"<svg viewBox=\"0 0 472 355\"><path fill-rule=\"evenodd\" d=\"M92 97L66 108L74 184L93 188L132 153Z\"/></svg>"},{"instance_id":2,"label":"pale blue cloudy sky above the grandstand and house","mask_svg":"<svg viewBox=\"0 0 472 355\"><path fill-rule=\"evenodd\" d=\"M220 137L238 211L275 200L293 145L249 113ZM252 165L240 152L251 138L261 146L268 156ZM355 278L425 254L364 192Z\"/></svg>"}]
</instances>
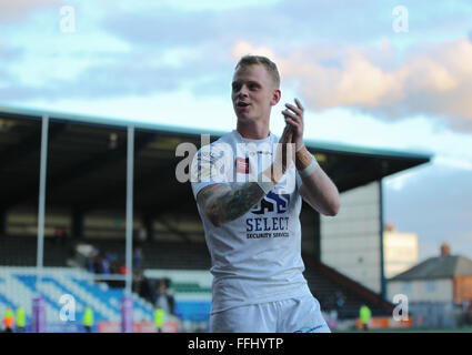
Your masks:
<instances>
[{"instance_id":1,"label":"pale blue cloudy sky above the grandstand and house","mask_svg":"<svg viewBox=\"0 0 472 355\"><path fill-rule=\"evenodd\" d=\"M420 260L472 257L472 2L0 0L0 105L230 131L235 61L279 65L314 141L429 153L384 180Z\"/></svg>"}]
</instances>

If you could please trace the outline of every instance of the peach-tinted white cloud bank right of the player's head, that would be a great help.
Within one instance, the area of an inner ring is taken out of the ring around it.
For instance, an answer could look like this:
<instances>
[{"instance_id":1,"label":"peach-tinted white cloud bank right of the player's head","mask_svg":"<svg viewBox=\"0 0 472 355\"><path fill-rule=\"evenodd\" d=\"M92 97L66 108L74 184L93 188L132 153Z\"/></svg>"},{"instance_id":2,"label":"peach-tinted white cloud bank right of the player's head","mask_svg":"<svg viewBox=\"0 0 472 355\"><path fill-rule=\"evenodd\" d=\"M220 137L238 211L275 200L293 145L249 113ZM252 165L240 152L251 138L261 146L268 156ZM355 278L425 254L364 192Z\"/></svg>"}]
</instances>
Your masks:
<instances>
[{"instance_id":1,"label":"peach-tinted white cloud bank right of the player's head","mask_svg":"<svg viewBox=\"0 0 472 355\"><path fill-rule=\"evenodd\" d=\"M347 47L317 53L309 44L287 55L237 42L232 54L243 52L271 54L282 80L293 81L312 110L343 106L390 120L429 114L472 131L472 42L466 38L416 45L393 68L395 53L384 38L379 49ZM335 65L324 64L327 60Z\"/></svg>"}]
</instances>

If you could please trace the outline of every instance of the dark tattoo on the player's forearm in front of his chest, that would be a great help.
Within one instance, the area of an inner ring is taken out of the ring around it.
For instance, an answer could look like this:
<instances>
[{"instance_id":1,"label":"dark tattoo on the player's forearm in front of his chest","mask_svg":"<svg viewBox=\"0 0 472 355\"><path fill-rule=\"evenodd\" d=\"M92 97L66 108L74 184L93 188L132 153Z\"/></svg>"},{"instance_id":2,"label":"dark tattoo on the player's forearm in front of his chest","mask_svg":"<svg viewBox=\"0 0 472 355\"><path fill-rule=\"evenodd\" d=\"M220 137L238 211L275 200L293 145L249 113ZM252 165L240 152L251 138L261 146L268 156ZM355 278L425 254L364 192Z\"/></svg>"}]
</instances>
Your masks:
<instances>
[{"instance_id":1,"label":"dark tattoo on the player's forearm in front of his chest","mask_svg":"<svg viewBox=\"0 0 472 355\"><path fill-rule=\"evenodd\" d=\"M257 182L214 184L198 195L198 202L209 220L215 226L221 226L242 216L264 195Z\"/></svg>"}]
</instances>

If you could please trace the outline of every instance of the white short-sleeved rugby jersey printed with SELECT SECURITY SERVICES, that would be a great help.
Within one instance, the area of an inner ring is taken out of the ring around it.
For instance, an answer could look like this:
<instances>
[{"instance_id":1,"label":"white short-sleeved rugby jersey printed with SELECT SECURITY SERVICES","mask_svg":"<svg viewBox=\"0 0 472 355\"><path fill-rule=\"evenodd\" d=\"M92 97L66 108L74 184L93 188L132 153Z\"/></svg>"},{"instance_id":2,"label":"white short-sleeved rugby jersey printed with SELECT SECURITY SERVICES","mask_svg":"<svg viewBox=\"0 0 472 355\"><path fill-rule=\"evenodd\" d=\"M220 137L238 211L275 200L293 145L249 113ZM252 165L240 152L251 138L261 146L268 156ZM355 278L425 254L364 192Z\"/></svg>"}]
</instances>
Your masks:
<instances>
[{"instance_id":1,"label":"white short-sleeved rugby jersey printed with SELECT SECURITY SERVICES","mask_svg":"<svg viewBox=\"0 0 472 355\"><path fill-rule=\"evenodd\" d=\"M263 140L247 140L233 130L201 148L192 164L194 197L214 183L255 181L272 164L278 141L272 133ZM292 163L263 200L220 227L198 206L214 276L212 313L310 293L302 274L300 186L301 179Z\"/></svg>"}]
</instances>

